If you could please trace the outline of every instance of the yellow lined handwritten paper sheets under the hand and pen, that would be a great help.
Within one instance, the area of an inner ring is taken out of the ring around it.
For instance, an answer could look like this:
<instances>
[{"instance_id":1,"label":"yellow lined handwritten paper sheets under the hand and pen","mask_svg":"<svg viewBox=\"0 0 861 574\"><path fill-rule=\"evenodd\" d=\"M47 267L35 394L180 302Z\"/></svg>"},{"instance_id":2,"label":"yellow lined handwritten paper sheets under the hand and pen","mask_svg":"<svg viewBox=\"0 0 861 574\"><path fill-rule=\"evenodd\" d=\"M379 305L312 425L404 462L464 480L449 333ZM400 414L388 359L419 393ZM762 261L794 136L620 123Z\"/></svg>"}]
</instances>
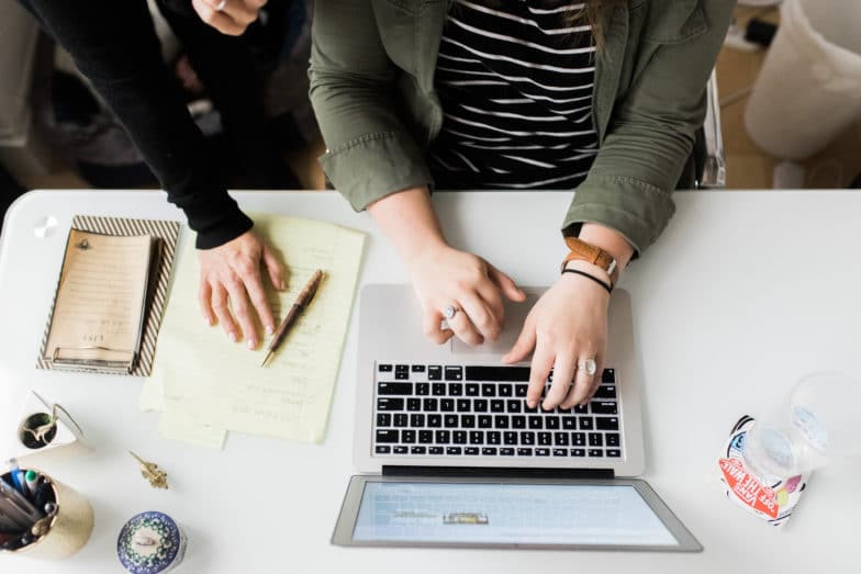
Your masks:
<instances>
[{"instance_id":1,"label":"yellow lined handwritten paper sheets under the hand and pen","mask_svg":"<svg viewBox=\"0 0 861 574\"><path fill-rule=\"evenodd\" d=\"M254 220L255 230L279 251L289 270L288 291L268 293L278 317L315 269L325 278L281 348L261 368L266 345L249 351L201 318L198 263L189 241L178 262L153 378L142 394L142 407L160 406L171 417L160 428L164 436L210 446L225 429L306 442L325 436L365 236L297 217L258 214ZM178 419L183 425L176 424Z\"/></svg>"}]
</instances>

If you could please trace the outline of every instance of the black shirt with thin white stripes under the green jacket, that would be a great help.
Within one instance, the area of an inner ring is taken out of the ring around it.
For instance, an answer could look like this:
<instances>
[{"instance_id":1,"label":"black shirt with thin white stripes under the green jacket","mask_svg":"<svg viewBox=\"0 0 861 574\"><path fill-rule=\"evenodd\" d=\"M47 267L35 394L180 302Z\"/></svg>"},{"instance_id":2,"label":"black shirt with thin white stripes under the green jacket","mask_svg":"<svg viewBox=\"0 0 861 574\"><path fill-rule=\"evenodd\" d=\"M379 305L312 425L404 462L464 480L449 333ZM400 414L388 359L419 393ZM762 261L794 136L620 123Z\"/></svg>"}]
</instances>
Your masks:
<instances>
[{"instance_id":1,"label":"black shirt with thin white stripes under the green jacket","mask_svg":"<svg viewBox=\"0 0 861 574\"><path fill-rule=\"evenodd\" d=\"M444 121L431 148L443 189L572 188L597 154L592 31L583 4L456 0L435 83ZM578 22L580 24L580 22Z\"/></svg>"}]
</instances>

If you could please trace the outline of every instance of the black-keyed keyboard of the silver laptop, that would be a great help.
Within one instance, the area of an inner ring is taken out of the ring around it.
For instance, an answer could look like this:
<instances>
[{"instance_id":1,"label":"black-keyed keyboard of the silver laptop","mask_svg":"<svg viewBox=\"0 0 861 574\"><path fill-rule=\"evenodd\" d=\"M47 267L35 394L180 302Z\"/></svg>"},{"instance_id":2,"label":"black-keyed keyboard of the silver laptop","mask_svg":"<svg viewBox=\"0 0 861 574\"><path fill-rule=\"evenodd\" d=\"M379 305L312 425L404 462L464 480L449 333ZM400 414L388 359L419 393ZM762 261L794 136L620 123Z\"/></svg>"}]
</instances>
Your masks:
<instances>
[{"instance_id":1,"label":"black-keyed keyboard of the silver laptop","mask_svg":"<svg viewBox=\"0 0 861 574\"><path fill-rule=\"evenodd\" d=\"M623 455L614 369L588 405L552 410L526 406L528 367L378 362L376 376L378 455Z\"/></svg>"}]
</instances>

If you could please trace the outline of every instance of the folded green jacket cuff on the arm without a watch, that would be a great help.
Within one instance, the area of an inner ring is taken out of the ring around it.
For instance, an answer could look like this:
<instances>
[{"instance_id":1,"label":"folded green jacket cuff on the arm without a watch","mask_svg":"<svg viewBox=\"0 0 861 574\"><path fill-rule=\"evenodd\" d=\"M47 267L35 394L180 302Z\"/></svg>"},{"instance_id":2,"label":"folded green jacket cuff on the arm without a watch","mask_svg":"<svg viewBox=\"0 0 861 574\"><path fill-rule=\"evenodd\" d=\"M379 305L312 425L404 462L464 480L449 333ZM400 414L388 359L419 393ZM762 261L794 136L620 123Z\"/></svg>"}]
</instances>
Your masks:
<instances>
[{"instance_id":1,"label":"folded green jacket cuff on the arm without a watch","mask_svg":"<svg viewBox=\"0 0 861 574\"><path fill-rule=\"evenodd\" d=\"M400 132L368 134L320 158L326 176L353 209L362 211L396 191L431 185L433 178L415 140Z\"/></svg>"}]
</instances>

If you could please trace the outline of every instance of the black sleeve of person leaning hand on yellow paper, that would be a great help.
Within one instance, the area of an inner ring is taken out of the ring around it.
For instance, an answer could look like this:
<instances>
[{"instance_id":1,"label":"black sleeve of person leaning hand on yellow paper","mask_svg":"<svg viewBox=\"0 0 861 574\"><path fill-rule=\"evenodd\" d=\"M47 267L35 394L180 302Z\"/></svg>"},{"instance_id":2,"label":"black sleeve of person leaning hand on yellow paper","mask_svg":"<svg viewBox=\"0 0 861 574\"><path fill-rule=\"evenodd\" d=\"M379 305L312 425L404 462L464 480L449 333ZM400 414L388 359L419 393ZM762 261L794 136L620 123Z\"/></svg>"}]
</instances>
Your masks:
<instances>
[{"instance_id":1,"label":"black sleeve of person leaning hand on yellow paper","mask_svg":"<svg viewBox=\"0 0 861 574\"><path fill-rule=\"evenodd\" d=\"M123 123L198 233L217 247L253 223L227 194L205 138L182 102L144 0L21 0Z\"/></svg>"}]
</instances>

